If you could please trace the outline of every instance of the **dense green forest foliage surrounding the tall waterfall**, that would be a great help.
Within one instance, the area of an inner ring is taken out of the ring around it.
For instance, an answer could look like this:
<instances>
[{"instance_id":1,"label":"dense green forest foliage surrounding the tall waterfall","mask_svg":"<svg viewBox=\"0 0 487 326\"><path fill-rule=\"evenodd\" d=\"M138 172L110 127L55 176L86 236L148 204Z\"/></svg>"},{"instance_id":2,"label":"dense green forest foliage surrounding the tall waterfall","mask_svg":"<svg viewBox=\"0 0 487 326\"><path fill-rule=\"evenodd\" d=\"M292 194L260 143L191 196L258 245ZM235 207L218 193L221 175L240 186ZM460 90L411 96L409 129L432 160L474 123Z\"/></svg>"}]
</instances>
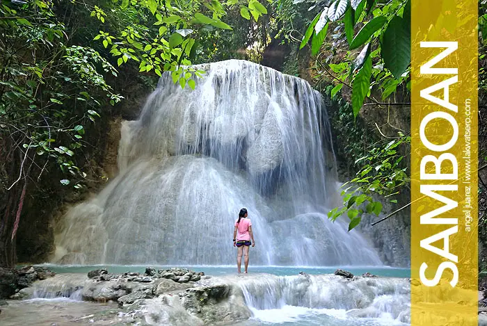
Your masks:
<instances>
[{"instance_id":1,"label":"dense green forest foliage surrounding the tall waterfall","mask_svg":"<svg viewBox=\"0 0 487 326\"><path fill-rule=\"evenodd\" d=\"M486 1L479 2L480 243L486 165ZM43 261L54 224L113 177L117 121L134 119L163 72L251 60L324 95L349 228L387 203L408 211L408 0L0 1L0 266ZM481 253L481 270L487 261Z\"/></svg>"}]
</instances>

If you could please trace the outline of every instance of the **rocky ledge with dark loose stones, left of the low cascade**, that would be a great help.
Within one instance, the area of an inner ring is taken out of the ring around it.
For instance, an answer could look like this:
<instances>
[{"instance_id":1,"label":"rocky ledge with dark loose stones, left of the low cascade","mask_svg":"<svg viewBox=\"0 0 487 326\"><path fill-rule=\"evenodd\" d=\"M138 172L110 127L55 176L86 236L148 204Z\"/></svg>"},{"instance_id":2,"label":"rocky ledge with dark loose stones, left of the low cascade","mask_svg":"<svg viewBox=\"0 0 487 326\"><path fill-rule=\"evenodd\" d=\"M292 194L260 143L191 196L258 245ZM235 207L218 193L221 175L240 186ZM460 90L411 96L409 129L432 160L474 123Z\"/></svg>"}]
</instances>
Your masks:
<instances>
[{"instance_id":1,"label":"rocky ledge with dark loose stones, left of the low cascade","mask_svg":"<svg viewBox=\"0 0 487 326\"><path fill-rule=\"evenodd\" d=\"M150 325L218 325L251 316L239 287L186 268L146 268L144 273L122 274L99 269L88 275L60 274L10 296L11 299L58 297L118 302L120 311L115 319L122 325L147 325L147 318L152 320ZM99 318L101 322L106 316Z\"/></svg>"}]
</instances>

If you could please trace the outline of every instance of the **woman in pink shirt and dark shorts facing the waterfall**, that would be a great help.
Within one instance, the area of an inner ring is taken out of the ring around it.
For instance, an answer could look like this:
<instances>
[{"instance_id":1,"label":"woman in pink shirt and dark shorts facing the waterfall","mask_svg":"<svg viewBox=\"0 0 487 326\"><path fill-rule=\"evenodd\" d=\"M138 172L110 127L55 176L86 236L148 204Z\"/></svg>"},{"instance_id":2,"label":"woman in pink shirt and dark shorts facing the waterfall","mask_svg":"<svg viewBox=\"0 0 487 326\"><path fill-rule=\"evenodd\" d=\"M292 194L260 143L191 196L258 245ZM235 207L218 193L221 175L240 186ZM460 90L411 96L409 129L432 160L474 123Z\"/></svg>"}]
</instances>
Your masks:
<instances>
[{"instance_id":1,"label":"woman in pink shirt and dark shorts facing the waterfall","mask_svg":"<svg viewBox=\"0 0 487 326\"><path fill-rule=\"evenodd\" d=\"M238 231L238 236L237 236ZM250 240L252 242L250 242ZM237 269L241 273L242 254L245 258L245 272L248 268L248 248L252 244L255 247L254 235L252 233L252 222L247 218L247 210L241 209L239 219L235 222L235 229L233 230L233 246L237 246Z\"/></svg>"}]
</instances>

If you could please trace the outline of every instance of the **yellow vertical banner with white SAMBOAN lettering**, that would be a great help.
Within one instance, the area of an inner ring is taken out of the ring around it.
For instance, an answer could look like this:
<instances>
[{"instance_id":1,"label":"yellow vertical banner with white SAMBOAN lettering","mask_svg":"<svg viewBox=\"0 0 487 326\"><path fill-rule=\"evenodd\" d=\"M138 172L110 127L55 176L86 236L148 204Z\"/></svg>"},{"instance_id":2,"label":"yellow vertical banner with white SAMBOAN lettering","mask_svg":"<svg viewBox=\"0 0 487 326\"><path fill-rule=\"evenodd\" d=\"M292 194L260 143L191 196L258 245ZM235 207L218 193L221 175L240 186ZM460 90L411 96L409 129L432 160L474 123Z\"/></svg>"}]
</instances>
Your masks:
<instances>
[{"instance_id":1,"label":"yellow vertical banner with white SAMBOAN lettering","mask_svg":"<svg viewBox=\"0 0 487 326\"><path fill-rule=\"evenodd\" d=\"M477 326L477 1L411 1L411 325Z\"/></svg>"}]
</instances>

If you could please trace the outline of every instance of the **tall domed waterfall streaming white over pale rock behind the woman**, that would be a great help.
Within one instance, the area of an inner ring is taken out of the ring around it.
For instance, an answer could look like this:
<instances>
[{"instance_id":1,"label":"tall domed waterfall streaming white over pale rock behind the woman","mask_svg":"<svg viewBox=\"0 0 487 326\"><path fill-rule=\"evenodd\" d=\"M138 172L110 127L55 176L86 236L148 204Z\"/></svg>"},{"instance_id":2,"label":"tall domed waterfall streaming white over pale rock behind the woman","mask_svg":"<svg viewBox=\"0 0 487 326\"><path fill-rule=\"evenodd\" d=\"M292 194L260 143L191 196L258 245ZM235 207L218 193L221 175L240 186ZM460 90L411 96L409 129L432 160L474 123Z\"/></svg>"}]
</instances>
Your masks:
<instances>
[{"instance_id":1,"label":"tall domed waterfall streaming white over pale rock behind the woman","mask_svg":"<svg viewBox=\"0 0 487 326\"><path fill-rule=\"evenodd\" d=\"M344 222L319 92L242 60L200 65L195 90L163 74L136 121L124 122L119 175L74 206L56 236L58 263L232 264L248 209L262 265L380 265Z\"/></svg>"}]
</instances>

